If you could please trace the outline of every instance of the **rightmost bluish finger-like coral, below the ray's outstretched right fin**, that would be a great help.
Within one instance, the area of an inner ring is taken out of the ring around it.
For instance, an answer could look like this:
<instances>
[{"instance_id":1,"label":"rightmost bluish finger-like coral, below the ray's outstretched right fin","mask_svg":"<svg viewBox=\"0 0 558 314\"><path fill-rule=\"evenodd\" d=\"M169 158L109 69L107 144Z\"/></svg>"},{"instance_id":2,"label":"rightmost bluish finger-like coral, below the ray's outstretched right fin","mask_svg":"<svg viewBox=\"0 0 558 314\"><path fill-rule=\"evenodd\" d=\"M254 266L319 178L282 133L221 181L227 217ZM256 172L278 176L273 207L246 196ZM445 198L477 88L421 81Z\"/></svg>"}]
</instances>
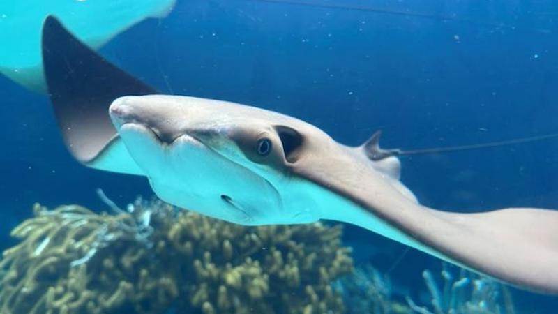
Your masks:
<instances>
[{"instance_id":1,"label":"rightmost bluish finger-like coral, below the ray's outstretched right fin","mask_svg":"<svg viewBox=\"0 0 558 314\"><path fill-rule=\"evenodd\" d=\"M513 299L508 287L485 276L460 269L457 278L443 264L439 285L432 271L423 271L423 278L430 293L431 308L418 306L407 296L413 313L420 314L515 314Z\"/></svg>"}]
</instances>

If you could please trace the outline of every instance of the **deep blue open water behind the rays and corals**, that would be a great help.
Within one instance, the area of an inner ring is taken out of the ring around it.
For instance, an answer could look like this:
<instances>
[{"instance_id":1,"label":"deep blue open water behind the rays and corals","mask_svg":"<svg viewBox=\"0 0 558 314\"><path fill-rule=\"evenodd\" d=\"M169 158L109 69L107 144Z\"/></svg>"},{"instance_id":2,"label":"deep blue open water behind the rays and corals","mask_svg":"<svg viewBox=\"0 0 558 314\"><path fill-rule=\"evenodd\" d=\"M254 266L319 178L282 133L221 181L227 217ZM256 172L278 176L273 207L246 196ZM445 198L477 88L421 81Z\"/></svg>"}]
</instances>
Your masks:
<instances>
[{"instance_id":1,"label":"deep blue open water behind the rays and corals","mask_svg":"<svg viewBox=\"0 0 558 314\"><path fill-rule=\"evenodd\" d=\"M378 129L383 147L403 149L558 133L558 3L442 2L314 1L405 13L394 14L179 0L169 17L142 22L101 53L165 93L277 110L347 144ZM77 164L45 96L0 77L0 99L4 247L33 202L105 209L96 188L119 204L151 195L142 178ZM402 165L402 180L431 207L558 208L558 140L405 157ZM394 265L403 246L346 230L359 260L392 269L393 281L414 294L423 289L421 270L439 267L412 250ZM537 313L558 306L550 297L518 295L521 308Z\"/></svg>"}]
</instances>

